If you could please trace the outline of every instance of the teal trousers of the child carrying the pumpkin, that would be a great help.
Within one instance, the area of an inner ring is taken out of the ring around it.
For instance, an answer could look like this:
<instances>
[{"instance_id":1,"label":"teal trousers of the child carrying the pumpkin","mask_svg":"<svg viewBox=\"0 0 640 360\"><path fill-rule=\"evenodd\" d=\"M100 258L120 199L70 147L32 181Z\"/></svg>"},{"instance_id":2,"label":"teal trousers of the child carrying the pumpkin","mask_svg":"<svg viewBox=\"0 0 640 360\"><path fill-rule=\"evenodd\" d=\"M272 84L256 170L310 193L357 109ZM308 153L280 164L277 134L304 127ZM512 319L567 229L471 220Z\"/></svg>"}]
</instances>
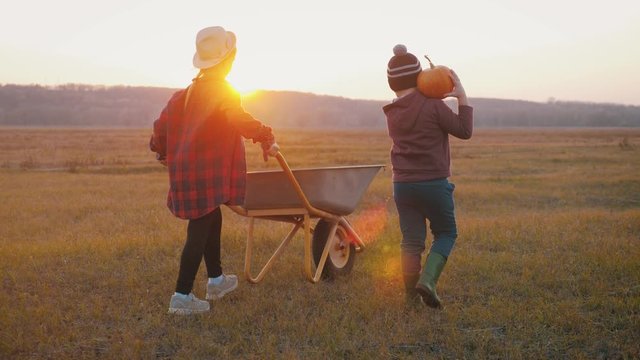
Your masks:
<instances>
[{"instance_id":1,"label":"teal trousers of the child carrying the pumpkin","mask_svg":"<svg viewBox=\"0 0 640 360\"><path fill-rule=\"evenodd\" d=\"M402 231L400 247L405 272L413 273L420 269L420 257L426 248L427 221L433 234L430 251L445 258L451 254L458 237L453 204L454 189L455 185L446 178L393 183L393 198Z\"/></svg>"}]
</instances>

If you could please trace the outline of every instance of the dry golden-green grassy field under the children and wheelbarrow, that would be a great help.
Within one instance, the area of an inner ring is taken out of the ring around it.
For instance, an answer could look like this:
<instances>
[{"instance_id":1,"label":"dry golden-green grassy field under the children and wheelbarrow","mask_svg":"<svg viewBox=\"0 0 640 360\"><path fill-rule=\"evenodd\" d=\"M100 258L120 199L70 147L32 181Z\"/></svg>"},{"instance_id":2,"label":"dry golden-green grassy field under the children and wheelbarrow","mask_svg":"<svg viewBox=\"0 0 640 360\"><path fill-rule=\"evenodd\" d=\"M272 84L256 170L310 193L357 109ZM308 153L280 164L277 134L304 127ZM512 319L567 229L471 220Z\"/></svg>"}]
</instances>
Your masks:
<instances>
[{"instance_id":1,"label":"dry golden-green grassy field under the children and wheelbarrow","mask_svg":"<svg viewBox=\"0 0 640 360\"><path fill-rule=\"evenodd\" d=\"M453 141L443 311L403 306L387 167L349 217L368 243L350 276L305 281L298 235L262 283L194 317L166 314L186 222L148 135L0 129L0 358L640 357L640 130ZM384 132L277 136L293 167L389 165ZM276 167L247 148L251 169ZM242 273L246 225L224 209L226 272ZM286 231L258 222L257 263Z\"/></svg>"}]
</instances>

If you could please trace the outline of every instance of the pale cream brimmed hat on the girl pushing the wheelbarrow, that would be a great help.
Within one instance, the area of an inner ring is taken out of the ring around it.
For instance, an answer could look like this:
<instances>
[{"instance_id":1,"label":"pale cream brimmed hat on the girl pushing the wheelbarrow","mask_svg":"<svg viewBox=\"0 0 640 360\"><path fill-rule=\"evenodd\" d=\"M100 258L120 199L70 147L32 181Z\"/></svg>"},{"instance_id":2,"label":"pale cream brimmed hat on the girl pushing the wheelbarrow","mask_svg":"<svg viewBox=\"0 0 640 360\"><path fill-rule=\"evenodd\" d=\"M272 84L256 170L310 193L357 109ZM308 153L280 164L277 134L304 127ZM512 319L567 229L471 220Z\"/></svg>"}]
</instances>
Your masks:
<instances>
[{"instance_id":1,"label":"pale cream brimmed hat on the girl pushing the wheelbarrow","mask_svg":"<svg viewBox=\"0 0 640 360\"><path fill-rule=\"evenodd\" d=\"M236 35L222 26L198 31L193 66L207 69L222 62L236 48Z\"/></svg>"}]
</instances>

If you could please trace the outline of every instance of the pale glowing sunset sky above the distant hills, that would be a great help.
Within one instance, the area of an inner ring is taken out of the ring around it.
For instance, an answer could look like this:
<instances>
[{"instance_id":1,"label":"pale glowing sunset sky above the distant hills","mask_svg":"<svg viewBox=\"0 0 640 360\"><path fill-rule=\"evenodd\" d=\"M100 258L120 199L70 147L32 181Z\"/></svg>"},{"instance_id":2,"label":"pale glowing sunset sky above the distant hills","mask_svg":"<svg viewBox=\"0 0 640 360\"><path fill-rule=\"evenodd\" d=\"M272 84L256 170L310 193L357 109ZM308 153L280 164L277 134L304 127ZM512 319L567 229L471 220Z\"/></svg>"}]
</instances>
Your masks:
<instances>
[{"instance_id":1,"label":"pale glowing sunset sky above the distant hills","mask_svg":"<svg viewBox=\"0 0 640 360\"><path fill-rule=\"evenodd\" d=\"M184 87L195 35L237 36L229 81L391 99L405 44L470 97L640 105L640 1L0 0L0 84Z\"/></svg>"}]
</instances>

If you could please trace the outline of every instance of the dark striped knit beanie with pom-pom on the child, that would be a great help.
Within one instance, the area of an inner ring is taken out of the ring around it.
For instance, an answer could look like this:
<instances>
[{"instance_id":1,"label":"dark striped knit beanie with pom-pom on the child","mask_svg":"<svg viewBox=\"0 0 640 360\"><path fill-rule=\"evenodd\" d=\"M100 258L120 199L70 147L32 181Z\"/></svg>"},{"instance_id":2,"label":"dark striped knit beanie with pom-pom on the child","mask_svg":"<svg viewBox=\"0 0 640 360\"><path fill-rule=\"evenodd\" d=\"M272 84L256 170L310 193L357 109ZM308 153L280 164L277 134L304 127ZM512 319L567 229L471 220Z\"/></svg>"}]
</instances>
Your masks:
<instances>
[{"instance_id":1,"label":"dark striped knit beanie with pom-pom on the child","mask_svg":"<svg viewBox=\"0 0 640 360\"><path fill-rule=\"evenodd\" d=\"M402 44L393 47L393 55L387 65L387 80L391 90L416 87L418 74L422 71L418 58L407 52L407 47Z\"/></svg>"}]
</instances>

